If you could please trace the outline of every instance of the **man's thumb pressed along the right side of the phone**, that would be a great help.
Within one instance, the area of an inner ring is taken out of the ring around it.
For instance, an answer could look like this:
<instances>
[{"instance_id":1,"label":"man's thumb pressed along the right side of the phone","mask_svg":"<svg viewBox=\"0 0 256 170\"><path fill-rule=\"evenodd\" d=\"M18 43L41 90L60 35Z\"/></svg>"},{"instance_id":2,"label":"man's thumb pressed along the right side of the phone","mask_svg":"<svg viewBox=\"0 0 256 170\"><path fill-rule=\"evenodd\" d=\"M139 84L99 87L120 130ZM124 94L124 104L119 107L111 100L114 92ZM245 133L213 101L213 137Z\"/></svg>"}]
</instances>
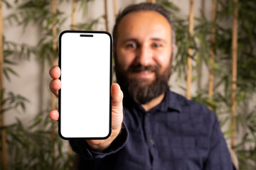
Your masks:
<instances>
[{"instance_id":1,"label":"man's thumb pressed along the right side of the phone","mask_svg":"<svg viewBox=\"0 0 256 170\"><path fill-rule=\"evenodd\" d=\"M112 96L112 130L118 130L121 128L123 120L123 93L118 84L112 84L111 86Z\"/></svg>"}]
</instances>

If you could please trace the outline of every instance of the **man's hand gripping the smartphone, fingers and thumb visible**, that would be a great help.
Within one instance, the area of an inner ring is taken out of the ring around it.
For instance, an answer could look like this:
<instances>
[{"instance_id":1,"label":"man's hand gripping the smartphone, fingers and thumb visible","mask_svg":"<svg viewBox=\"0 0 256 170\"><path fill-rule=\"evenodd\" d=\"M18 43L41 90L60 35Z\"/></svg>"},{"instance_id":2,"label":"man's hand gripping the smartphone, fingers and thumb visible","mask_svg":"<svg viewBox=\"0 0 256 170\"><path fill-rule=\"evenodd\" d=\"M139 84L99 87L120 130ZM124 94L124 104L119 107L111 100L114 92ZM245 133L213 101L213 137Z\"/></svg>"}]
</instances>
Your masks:
<instances>
[{"instance_id":1,"label":"man's hand gripping the smartphone, fingers and thumb visible","mask_svg":"<svg viewBox=\"0 0 256 170\"><path fill-rule=\"evenodd\" d=\"M53 78L50 81L50 90L58 97L58 90L61 88L60 82L60 67L53 66L49 71L50 77ZM86 140L87 144L95 150L104 150L110 146L114 139L119 135L122 128L123 120L123 107L122 99L123 93L118 84L112 84L111 86L111 96L112 96L112 132L110 137L106 140ZM50 112L50 118L57 121L59 118L58 110Z\"/></svg>"}]
</instances>

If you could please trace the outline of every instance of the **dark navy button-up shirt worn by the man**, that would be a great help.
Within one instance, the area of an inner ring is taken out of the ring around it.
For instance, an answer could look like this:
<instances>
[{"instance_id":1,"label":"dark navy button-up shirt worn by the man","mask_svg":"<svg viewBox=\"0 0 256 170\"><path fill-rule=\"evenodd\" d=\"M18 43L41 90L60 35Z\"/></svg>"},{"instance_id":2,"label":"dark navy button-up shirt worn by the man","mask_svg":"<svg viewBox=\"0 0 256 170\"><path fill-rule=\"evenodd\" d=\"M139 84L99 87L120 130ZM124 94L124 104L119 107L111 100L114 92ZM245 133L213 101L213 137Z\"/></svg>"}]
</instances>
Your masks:
<instances>
[{"instance_id":1,"label":"dark navy button-up shirt worn by the man","mask_svg":"<svg viewBox=\"0 0 256 170\"><path fill-rule=\"evenodd\" d=\"M80 169L235 169L215 114L167 91L150 111L124 98L124 128L103 152L85 140L70 140Z\"/></svg>"}]
</instances>

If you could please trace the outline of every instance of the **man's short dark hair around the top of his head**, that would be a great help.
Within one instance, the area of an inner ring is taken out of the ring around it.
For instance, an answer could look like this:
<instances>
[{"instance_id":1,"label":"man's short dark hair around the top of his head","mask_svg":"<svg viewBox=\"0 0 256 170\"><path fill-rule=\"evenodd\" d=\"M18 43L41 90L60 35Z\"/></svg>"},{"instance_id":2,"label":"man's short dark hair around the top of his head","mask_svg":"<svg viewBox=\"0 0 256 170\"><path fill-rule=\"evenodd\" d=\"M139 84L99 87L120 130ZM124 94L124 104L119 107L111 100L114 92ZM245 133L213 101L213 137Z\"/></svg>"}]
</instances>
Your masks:
<instances>
[{"instance_id":1,"label":"man's short dark hair around the top of his head","mask_svg":"<svg viewBox=\"0 0 256 170\"><path fill-rule=\"evenodd\" d=\"M124 8L123 11L121 11L117 15L116 22L114 24L114 29L113 29L114 51L117 45L117 26L119 22L128 13L137 12L137 11L156 11L157 13L160 13L162 16L164 16L164 18L166 18L171 25L171 46L174 47L176 43L176 36L174 31L174 23L171 20L171 13L167 11L164 7L160 6L159 4L141 3L141 4L132 4L130 6L127 6L126 8Z\"/></svg>"}]
</instances>

